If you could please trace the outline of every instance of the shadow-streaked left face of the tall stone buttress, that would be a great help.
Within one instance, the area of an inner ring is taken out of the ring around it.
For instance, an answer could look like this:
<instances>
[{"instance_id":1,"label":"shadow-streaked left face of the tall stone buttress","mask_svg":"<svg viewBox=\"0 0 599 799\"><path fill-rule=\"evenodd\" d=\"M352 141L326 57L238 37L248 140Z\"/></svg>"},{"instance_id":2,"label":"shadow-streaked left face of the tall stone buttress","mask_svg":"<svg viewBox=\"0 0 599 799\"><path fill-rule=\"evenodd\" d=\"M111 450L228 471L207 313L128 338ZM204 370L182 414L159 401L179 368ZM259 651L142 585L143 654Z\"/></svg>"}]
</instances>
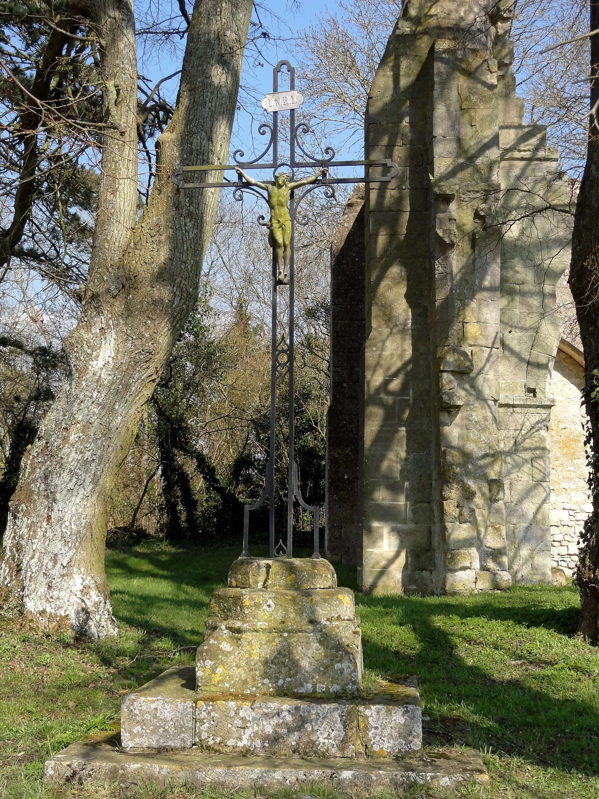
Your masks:
<instances>
[{"instance_id":1,"label":"shadow-streaked left face of the tall stone buttress","mask_svg":"<svg viewBox=\"0 0 599 799\"><path fill-rule=\"evenodd\" d=\"M396 29L397 30L397 29ZM363 420L364 590L436 589L430 403L432 40L392 37L367 105L368 158L399 177L367 187Z\"/></svg>"}]
</instances>

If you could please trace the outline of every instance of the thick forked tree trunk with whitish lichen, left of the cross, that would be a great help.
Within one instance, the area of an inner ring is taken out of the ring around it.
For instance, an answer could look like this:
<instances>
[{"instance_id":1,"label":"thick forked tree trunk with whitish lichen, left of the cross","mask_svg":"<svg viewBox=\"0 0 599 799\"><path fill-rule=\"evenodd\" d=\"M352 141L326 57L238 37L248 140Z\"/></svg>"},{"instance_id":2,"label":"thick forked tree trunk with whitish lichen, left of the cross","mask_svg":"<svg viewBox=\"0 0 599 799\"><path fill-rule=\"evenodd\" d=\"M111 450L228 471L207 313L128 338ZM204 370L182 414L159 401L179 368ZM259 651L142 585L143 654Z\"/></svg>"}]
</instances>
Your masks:
<instances>
[{"instance_id":1,"label":"thick forked tree trunk with whitish lichen, left of the cross","mask_svg":"<svg viewBox=\"0 0 599 799\"><path fill-rule=\"evenodd\" d=\"M105 578L105 504L165 360L196 301L217 192L176 189L183 164L225 163L252 0L196 0L177 108L158 141L140 221L131 0L78 2L101 39L107 117L89 284L65 342L68 374L22 463L0 581L40 619L116 632ZM215 176L216 177L216 176Z\"/></svg>"}]
</instances>

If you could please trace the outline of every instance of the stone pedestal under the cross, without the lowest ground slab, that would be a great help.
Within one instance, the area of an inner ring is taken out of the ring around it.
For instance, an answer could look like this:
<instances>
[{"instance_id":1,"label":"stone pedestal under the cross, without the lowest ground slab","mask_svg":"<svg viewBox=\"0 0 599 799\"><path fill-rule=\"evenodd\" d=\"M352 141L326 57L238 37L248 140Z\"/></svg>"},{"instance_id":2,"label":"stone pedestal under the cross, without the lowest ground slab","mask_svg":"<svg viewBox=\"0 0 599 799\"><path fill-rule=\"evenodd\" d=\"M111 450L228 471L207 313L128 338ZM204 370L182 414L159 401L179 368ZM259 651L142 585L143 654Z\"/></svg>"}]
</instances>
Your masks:
<instances>
[{"instance_id":1,"label":"stone pedestal under the cross, without the lowest ground slab","mask_svg":"<svg viewBox=\"0 0 599 799\"><path fill-rule=\"evenodd\" d=\"M206 633L195 681L173 669L123 700L125 749L367 758L421 748L414 678L361 692L354 593L327 560L236 560Z\"/></svg>"}]
</instances>

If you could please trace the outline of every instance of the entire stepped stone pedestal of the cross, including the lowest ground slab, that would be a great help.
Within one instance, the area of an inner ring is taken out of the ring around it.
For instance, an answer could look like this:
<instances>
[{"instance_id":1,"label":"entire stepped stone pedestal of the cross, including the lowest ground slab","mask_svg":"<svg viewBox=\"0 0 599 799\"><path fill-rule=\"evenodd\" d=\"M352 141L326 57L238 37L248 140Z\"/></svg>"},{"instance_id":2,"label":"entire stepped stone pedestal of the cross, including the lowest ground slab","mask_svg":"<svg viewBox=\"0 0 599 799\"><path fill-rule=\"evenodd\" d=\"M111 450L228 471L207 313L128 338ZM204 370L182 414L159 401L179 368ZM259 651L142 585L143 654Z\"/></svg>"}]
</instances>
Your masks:
<instances>
[{"instance_id":1,"label":"entire stepped stone pedestal of the cross, including the lowest ground slab","mask_svg":"<svg viewBox=\"0 0 599 799\"><path fill-rule=\"evenodd\" d=\"M48 761L46 779L177 780L183 769L192 784L236 789L485 781L474 753L454 765L422 755L415 678L373 694L362 673L354 594L329 562L239 559L210 599L195 670L173 668L123 699L116 759L100 742L73 745ZM407 756L416 760L397 759Z\"/></svg>"}]
</instances>

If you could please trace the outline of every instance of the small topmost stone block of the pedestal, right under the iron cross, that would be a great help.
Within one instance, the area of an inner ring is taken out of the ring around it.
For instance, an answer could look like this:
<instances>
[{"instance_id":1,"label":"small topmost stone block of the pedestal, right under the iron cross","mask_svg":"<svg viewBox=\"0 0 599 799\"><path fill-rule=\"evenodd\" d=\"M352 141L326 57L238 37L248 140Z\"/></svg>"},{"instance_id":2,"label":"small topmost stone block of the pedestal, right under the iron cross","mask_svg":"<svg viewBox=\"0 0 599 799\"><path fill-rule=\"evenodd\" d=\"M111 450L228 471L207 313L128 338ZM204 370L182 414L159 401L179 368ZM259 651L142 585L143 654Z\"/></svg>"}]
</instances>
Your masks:
<instances>
[{"instance_id":1,"label":"small topmost stone block of the pedestal, right under the iron cross","mask_svg":"<svg viewBox=\"0 0 599 799\"><path fill-rule=\"evenodd\" d=\"M335 588L337 574L324 558L238 558L228 570L232 588Z\"/></svg>"}]
</instances>

